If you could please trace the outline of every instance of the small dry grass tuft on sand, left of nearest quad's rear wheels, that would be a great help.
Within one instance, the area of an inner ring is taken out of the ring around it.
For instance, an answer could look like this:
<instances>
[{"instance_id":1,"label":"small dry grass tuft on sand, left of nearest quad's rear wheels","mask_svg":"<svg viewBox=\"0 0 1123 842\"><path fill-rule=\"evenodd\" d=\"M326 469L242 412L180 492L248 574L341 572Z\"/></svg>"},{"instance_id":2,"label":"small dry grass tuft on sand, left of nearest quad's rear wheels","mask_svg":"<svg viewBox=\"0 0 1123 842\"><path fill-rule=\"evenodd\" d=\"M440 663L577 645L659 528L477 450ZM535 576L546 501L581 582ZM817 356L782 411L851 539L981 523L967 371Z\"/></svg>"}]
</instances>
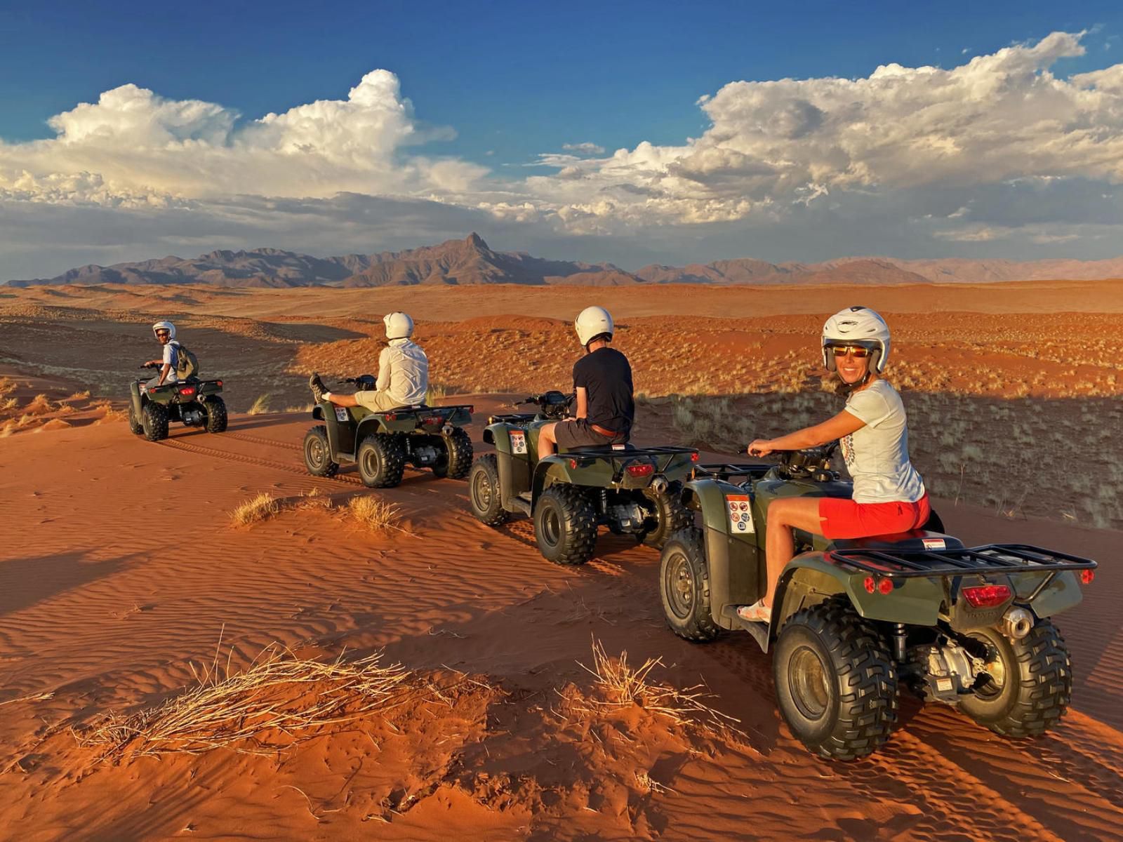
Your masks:
<instances>
[{"instance_id":1,"label":"small dry grass tuft on sand, left of nearest quad's rear wheels","mask_svg":"<svg viewBox=\"0 0 1123 842\"><path fill-rule=\"evenodd\" d=\"M560 692L565 707L579 716L604 716L631 707L642 707L676 725L694 725L705 731L737 732L739 720L715 711L703 699L710 694L702 685L678 689L651 680L651 671L663 667L663 658L648 658L638 668L628 663L628 652L609 657L601 641L593 640L593 667L581 667L594 678L593 694L587 695L569 685Z\"/></svg>"}]
</instances>

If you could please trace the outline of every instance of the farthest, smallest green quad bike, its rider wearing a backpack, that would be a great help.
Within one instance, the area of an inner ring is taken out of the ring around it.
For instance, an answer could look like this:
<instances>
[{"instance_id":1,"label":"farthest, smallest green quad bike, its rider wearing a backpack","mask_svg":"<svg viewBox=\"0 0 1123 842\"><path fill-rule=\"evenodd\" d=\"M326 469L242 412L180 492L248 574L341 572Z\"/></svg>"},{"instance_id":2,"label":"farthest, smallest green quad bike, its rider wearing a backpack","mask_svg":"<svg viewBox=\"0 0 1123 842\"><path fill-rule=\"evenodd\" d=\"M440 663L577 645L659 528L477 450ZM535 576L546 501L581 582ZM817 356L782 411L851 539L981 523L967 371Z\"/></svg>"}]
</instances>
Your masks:
<instances>
[{"instance_id":1,"label":"farthest, smallest green quad bike, its rider wearing a backpack","mask_svg":"<svg viewBox=\"0 0 1123 842\"><path fill-rule=\"evenodd\" d=\"M159 365L141 368L158 369ZM129 385L129 430L148 441L167 438L167 424L180 421L184 427L202 427L207 432L225 432L226 403L219 397L222 381L201 381L191 376L177 383L148 387L147 377Z\"/></svg>"}]
</instances>

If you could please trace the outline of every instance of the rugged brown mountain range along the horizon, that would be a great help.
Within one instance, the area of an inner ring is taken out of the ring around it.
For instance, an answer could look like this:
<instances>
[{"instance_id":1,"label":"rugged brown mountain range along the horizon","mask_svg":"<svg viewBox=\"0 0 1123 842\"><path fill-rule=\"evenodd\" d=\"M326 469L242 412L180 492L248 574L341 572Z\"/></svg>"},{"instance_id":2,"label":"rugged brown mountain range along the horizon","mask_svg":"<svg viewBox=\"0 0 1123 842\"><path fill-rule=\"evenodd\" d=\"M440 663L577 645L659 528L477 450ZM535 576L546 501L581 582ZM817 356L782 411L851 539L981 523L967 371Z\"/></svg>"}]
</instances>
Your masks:
<instances>
[{"instance_id":1,"label":"rugged brown mountain range along the horizon","mask_svg":"<svg viewBox=\"0 0 1123 842\"><path fill-rule=\"evenodd\" d=\"M438 246L373 255L312 257L276 248L217 250L195 258L162 257L112 266L80 266L49 278L9 286L62 284L214 284L217 286L385 286L404 284L924 284L1123 277L1123 257L1107 260L900 260L843 257L824 263L773 264L752 258L645 266L550 260L522 251L493 251L477 234Z\"/></svg>"}]
</instances>

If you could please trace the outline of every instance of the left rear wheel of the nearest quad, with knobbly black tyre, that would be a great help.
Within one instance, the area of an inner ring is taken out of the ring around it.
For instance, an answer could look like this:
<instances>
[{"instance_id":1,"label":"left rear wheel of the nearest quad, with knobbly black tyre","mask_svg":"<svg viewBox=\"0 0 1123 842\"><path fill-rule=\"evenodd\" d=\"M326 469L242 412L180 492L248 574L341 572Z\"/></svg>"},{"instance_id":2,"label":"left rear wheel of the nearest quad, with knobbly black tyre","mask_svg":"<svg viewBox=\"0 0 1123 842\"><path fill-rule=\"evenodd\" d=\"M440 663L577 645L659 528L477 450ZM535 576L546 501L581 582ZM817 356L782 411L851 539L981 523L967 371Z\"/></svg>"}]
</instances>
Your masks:
<instances>
[{"instance_id":1,"label":"left rear wheel of the nearest quad, with knobbly black tyre","mask_svg":"<svg viewBox=\"0 0 1123 842\"><path fill-rule=\"evenodd\" d=\"M897 721L897 671L888 647L843 598L788 617L776 640L773 677L780 715L819 757L870 754Z\"/></svg>"}]
</instances>

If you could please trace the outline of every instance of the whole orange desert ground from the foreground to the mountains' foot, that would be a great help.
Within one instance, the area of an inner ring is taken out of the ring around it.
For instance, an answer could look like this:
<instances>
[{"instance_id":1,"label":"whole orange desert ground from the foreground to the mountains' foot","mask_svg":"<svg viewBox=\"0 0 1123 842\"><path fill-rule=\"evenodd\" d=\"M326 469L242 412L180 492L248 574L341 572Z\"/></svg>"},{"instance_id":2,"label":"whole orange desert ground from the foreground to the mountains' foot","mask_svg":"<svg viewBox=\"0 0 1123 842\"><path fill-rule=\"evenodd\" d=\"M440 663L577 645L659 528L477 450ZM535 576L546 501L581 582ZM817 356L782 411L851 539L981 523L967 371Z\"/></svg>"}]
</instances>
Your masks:
<instances>
[{"instance_id":1,"label":"whole orange desert ground from the foreground to the mountains' foot","mask_svg":"<svg viewBox=\"0 0 1123 842\"><path fill-rule=\"evenodd\" d=\"M831 412L822 319L883 312L948 531L1099 561L1058 623L1060 724L1008 741L903 698L884 750L821 761L749 635L667 630L657 551L602 536L567 569L528 521L476 522L463 482L307 474L308 374L369 372L383 313L417 319L438 402L475 404L478 454L489 412L569 386L590 303L637 439L723 458ZM223 378L227 433L129 433L164 318ZM0 838L1120 839L1121 359L1120 281L0 289ZM638 703L624 657L657 659Z\"/></svg>"}]
</instances>

